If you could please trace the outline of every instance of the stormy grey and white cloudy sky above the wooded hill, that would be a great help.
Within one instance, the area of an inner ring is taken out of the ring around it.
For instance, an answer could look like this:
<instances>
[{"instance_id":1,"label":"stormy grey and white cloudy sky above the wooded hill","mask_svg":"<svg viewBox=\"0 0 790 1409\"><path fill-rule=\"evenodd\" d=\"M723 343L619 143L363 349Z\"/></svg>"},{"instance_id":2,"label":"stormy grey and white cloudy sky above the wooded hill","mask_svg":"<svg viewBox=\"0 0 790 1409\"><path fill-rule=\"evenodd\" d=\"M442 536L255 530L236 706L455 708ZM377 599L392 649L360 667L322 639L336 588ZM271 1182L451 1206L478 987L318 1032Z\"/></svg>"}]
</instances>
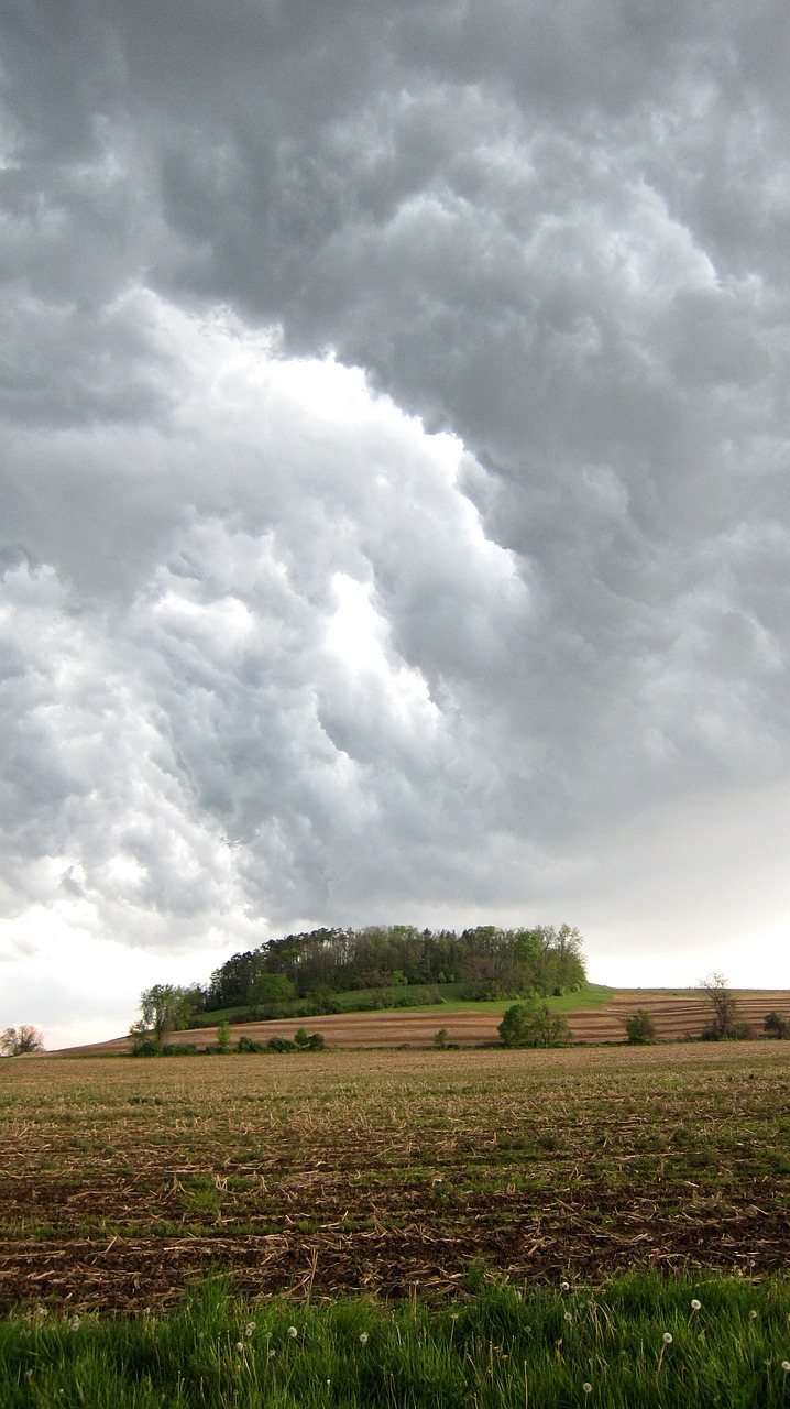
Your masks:
<instances>
[{"instance_id":1,"label":"stormy grey and white cloudy sky above the wooded hill","mask_svg":"<svg viewBox=\"0 0 790 1409\"><path fill-rule=\"evenodd\" d=\"M790 986L790 7L0 55L0 1029L324 924Z\"/></svg>"}]
</instances>

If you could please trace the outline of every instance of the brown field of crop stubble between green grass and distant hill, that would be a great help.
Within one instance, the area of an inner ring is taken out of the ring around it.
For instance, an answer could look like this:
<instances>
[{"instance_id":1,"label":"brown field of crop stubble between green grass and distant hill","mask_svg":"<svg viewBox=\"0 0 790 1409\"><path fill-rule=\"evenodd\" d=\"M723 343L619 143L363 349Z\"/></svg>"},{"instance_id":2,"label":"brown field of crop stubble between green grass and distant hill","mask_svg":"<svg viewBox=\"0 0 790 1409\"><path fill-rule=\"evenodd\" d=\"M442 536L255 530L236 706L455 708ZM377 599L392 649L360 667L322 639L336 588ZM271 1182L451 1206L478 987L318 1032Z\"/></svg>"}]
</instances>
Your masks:
<instances>
[{"instance_id":1,"label":"brown field of crop stubble between green grass and distant hill","mask_svg":"<svg viewBox=\"0 0 790 1409\"><path fill-rule=\"evenodd\" d=\"M783 1270L784 1044L4 1062L0 1306Z\"/></svg>"}]
</instances>

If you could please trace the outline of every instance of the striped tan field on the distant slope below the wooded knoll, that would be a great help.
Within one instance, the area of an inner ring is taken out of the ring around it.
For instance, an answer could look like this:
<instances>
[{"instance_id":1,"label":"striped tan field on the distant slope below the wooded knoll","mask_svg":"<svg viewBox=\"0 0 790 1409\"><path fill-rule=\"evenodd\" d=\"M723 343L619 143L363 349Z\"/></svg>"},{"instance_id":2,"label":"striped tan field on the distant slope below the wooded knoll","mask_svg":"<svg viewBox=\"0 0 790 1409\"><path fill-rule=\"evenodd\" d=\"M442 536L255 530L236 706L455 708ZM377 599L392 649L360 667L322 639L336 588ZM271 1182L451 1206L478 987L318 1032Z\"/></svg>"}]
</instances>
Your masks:
<instances>
[{"instance_id":1,"label":"striped tan field on the distant slope below the wooded knoll","mask_svg":"<svg viewBox=\"0 0 790 1409\"><path fill-rule=\"evenodd\" d=\"M277 1019L266 1023L244 1023L232 1030L231 1038L244 1033L256 1041L269 1037L293 1037L297 1027L307 1031L321 1031L330 1047L348 1050L362 1047L430 1047L439 1027L446 1029L446 1040L462 1047L480 1047L497 1043L497 1024L506 1007L513 1000L499 1003L438 1005L427 1009L396 1009L373 1013L331 1013L321 1017ZM698 1037L711 1020L710 1006L700 989L607 989L589 985L582 995L566 993L551 999L549 1006L563 1012L570 1033L579 1043L622 1043L625 1041L625 1020L639 1007L646 1007L655 1020L659 1041L683 1041ZM762 1031L766 1013L776 1009L790 1019L789 989L744 989L738 992L738 1014L742 1022L753 1024L755 1033ZM193 1029L172 1033L173 1044L197 1043L203 1045L217 1040L215 1027ZM93 1047L72 1048L72 1054L113 1054L130 1050L125 1037L100 1043Z\"/></svg>"}]
</instances>

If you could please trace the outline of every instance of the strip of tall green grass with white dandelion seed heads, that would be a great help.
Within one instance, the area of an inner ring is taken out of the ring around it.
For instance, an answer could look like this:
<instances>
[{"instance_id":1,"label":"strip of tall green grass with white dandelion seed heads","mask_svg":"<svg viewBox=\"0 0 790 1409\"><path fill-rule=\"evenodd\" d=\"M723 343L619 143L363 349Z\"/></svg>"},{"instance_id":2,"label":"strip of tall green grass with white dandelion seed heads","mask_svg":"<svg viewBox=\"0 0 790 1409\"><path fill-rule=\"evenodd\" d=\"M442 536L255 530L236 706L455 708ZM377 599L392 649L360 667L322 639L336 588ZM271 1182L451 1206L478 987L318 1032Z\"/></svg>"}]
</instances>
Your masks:
<instances>
[{"instance_id":1,"label":"strip of tall green grass with white dandelion seed heads","mask_svg":"<svg viewBox=\"0 0 790 1409\"><path fill-rule=\"evenodd\" d=\"M475 1282L475 1277L469 1277ZM482 1286L431 1308L249 1303L210 1279L166 1316L0 1322L0 1402L159 1409L790 1403L790 1286L632 1274Z\"/></svg>"}]
</instances>

